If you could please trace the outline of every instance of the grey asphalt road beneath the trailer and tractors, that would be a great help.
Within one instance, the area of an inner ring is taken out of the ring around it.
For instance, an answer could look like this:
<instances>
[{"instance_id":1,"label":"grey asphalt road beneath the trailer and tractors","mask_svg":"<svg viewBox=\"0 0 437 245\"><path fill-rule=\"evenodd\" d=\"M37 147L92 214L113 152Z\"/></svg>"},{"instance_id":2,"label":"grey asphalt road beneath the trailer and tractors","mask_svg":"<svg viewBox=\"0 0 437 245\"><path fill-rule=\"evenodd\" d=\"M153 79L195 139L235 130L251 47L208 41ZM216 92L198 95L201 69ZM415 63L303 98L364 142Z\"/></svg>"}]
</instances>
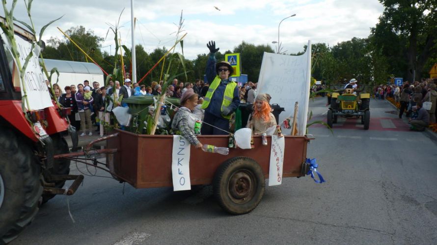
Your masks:
<instances>
[{"instance_id":1,"label":"grey asphalt road beneath the trailer and tractors","mask_svg":"<svg viewBox=\"0 0 437 245\"><path fill-rule=\"evenodd\" d=\"M310 103L312 120L326 122L325 103ZM369 130L343 118L333 134L309 128L316 139L307 156L326 183L285 178L249 214L223 212L209 186L136 190L85 177L74 196L45 204L11 245L437 244L436 137L409 131L386 101L372 99L370 107Z\"/></svg>"}]
</instances>

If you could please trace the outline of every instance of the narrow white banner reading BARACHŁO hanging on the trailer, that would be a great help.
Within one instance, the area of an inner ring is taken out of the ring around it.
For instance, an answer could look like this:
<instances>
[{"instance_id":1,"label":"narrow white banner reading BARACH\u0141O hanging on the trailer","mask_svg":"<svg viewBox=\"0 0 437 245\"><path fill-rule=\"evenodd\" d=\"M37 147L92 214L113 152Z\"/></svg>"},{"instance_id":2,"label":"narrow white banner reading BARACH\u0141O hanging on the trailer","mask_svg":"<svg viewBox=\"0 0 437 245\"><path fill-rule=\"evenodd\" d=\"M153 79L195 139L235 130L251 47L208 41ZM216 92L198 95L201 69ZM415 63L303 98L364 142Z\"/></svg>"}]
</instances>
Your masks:
<instances>
[{"instance_id":1,"label":"narrow white banner reading BARACH\u0141O hanging on the trailer","mask_svg":"<svg viewBox=\"0 0 437 245\"><path fill-rule=\"evenodd\" d=\"M284 164L285 137L272 135L270 149L269 186L282 184L282 166Z\"/></svg>"}]
</instances>

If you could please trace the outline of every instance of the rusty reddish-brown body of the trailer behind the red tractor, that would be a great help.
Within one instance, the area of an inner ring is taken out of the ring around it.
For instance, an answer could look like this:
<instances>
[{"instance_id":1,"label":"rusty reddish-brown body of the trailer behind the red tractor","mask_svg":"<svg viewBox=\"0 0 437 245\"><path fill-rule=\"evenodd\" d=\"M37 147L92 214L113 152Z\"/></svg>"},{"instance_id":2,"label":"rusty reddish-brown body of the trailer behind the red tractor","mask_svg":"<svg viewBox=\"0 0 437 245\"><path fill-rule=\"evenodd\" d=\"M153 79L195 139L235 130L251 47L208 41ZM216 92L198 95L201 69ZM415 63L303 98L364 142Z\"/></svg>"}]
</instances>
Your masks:
<instances>
[{"instance_id":1,"label":"rusty reddish-brown body of the trailer behind the red tractor","mask_svg":"<svg viewBox=\"0 0 437 245\"><path fill-rule=\"evenodd\" d=\"M118 148L114 156L114 172L136 188L172 186L171 158L172 135L137 135L117 130L118 138L108 140L108 148ZM199 136L202 144L226 147L227 136ZM191 185L211 184L220 164L227 159L246 156L254 159L269 177L271 137L268 145L262 145L261 137L254 137L254 149L229 150L229 155L203 152L191 147L190 178ZM283 177L303 176L302 163L306 157L309 139L303 136L285 136Z\"/></svg>"}]
</instances>

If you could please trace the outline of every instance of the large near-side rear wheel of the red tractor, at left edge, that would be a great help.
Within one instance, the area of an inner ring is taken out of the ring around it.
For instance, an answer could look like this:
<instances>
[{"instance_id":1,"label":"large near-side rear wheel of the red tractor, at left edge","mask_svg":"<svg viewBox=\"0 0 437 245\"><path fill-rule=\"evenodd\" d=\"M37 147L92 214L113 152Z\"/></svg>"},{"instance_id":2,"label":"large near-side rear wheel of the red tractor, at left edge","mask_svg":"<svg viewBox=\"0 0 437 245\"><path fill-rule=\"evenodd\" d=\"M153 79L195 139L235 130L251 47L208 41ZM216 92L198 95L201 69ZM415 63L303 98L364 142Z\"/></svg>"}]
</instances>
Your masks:
<instances>
[{"instance_id":1,"label":"large near-side rear wheel of the red tractor, at left edge","mask_svg":"<svg viewBox=\"0 0 437 245\"><path fill-rule=\"evenodd\" d=\"M4 244L33 220L43 187L33 151L12 130L0 130L0 149L0 244Z\"/></svg>"}]
</instances>

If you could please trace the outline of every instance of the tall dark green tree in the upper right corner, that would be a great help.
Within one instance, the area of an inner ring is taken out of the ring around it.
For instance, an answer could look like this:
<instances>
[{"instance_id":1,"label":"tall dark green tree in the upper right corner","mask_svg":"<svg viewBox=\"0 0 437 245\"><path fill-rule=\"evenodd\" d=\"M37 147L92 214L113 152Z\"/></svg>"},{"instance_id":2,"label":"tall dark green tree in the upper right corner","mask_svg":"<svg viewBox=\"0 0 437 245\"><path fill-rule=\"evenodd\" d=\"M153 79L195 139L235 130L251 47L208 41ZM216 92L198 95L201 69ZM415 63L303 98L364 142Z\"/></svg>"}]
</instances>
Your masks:
<instances>
[{"instance_id":1,"label":"tall dark green tree in the upper right corner","mask_svg":"<svg viewBox=\"0 0 437 245\"><path fill-rule=\"evenodd\" d=\"M390 72L408 80L425 74L424 66L436 55L436 0L380 0L385 7L372 30L377 48L389 59ZM422 73L424 72L424 73ZM414 77L415 75L415 77Z\"/></svg>"}]
</instances>

